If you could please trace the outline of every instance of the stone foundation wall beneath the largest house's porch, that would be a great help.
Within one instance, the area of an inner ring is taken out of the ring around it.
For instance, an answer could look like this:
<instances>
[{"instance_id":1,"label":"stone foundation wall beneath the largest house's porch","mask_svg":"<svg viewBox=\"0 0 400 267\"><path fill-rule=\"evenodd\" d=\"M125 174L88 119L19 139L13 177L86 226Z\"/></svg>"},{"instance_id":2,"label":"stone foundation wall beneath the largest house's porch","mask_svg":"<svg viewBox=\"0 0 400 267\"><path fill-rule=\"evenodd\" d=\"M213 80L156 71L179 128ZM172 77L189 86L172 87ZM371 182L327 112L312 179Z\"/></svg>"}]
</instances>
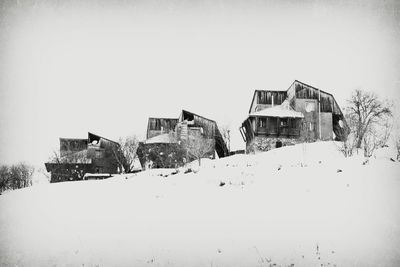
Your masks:
<instances>
[{"instance_id":1,"label":"stone foundation wall beneath the largest house's porch","mask_svg":"<svg viewBox=\"0 0 400 267\"><path fill-rule=\"evenodd\" d=\"M255 136L254 139L246 145L246 153L268 151L279 147L280 144L281 146L292 146L301 142L302 140L298 138Z\"/></svg>"}]
</instances>

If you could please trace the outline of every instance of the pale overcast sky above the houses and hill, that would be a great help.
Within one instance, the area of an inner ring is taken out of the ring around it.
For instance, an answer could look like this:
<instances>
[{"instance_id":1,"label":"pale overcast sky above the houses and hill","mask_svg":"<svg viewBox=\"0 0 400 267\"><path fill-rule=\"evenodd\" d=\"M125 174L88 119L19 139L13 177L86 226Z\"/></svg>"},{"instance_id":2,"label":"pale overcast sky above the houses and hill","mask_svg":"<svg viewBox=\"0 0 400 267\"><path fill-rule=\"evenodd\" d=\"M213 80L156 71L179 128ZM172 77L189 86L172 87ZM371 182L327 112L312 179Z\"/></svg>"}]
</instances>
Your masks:
<instances>
[{"instance_id":1,"label":"pale overcast sky above the houses and hill","mask_svg":"<svg viewBox=\"0 0 400 267\"><path fill-rule=\"evenodd\" d=\"M396 1L1 1L0 163L45 162L59 137L145 136L181 109L230 125L255 89L298 79L400 96ZM397 115L397 114L396 114Z\"/></svg>"}]
</instances>

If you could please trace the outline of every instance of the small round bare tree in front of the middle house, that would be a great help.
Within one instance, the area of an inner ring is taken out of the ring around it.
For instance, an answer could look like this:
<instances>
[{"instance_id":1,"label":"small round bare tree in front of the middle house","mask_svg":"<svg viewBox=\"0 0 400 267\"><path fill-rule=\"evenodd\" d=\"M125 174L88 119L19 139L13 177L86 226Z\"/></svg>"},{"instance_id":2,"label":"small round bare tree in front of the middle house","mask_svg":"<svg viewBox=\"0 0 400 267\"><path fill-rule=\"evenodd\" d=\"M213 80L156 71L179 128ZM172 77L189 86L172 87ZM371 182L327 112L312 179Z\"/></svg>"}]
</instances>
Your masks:
<instances>
[{"instance_id":1,"label":"small round bare tree in front of the middle house","mask_svg":"<svg viewBox=\"0 0 400 267\"><path fill-rule=\"evenodd\" d=\"M214 153L214 142L213 139L205 138L202 134L190 136L186 144L188 156L197 159L201 166L201 158Z\"/></svg>"}]
</instances>

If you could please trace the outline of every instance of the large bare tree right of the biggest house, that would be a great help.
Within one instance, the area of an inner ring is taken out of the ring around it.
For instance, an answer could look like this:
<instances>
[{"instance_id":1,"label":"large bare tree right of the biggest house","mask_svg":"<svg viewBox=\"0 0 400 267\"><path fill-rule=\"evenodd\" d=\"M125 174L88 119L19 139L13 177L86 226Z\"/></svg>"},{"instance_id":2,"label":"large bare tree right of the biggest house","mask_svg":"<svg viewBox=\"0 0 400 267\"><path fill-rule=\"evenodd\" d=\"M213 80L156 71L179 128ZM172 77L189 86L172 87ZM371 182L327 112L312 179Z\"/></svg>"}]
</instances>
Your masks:
<instances>
[{"instance_id":1,"label":"large bare tree right of the biggest house","mask_svg":"<svg viewBox=\"0 0 400 267\"><path fill-rule=\"evenodd\" d=\"M392 111L390 105L379 100L377 95L362 90L355 90L348 102L348 122L355 136L355 146L361 148L372 142L380 122L391 117ZM370 136L365 140L368 134Z\"/></svg>"}]
</instances>

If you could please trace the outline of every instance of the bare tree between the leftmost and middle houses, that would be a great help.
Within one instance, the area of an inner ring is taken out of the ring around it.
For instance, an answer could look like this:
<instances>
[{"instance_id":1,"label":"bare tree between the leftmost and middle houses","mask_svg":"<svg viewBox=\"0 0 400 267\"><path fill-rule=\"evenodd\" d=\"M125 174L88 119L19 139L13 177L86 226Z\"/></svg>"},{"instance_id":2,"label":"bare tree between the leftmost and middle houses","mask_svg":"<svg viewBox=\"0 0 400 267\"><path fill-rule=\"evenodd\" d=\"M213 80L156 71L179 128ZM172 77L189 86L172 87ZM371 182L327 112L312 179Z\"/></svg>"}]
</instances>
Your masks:
<instances>
[{"instance_id":1,"label":"bare tree between the leftmost and middle houses","mask_svg":"<svg viewBox=\"0 0 400 267\"><path fill-rule=\"evenodd\" d=\"M120 169L124 173L133 171L134 162L137 159L137 148L139 146L139 139L136 135L120 138L119 146L115 146L113 153L118 162Z\"/></svg>"}]
</instances>

